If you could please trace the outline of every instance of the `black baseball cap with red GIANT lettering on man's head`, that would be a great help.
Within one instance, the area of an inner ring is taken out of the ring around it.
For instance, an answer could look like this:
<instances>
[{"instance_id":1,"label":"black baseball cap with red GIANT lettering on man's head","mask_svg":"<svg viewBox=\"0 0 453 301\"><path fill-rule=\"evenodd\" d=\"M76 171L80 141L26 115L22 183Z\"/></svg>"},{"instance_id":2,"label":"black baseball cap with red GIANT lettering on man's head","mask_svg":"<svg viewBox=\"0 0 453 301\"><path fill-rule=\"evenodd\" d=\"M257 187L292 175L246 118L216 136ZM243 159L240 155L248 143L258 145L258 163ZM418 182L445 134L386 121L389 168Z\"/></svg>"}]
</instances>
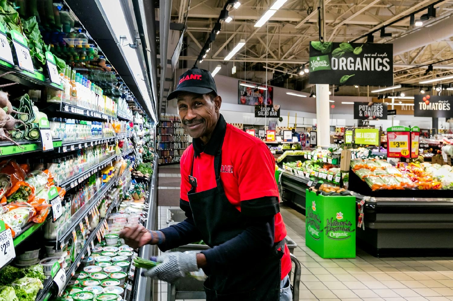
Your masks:
<instances>
[{"instance_id":1,"label":"black baseball cap with red GIANT lettering on man's head","mask_svg":"<svg viewBox=\"0 0 453 301\"><path fill-rule=\"evenodd\" d=\"M200 68L193 68L184 72L184 74L179 77L176 89L167 96L167 100L178 97L178 94L181 92L196 94L214 92L217 94L217 87L211 72Z\"/></svg>"}]
</instances>

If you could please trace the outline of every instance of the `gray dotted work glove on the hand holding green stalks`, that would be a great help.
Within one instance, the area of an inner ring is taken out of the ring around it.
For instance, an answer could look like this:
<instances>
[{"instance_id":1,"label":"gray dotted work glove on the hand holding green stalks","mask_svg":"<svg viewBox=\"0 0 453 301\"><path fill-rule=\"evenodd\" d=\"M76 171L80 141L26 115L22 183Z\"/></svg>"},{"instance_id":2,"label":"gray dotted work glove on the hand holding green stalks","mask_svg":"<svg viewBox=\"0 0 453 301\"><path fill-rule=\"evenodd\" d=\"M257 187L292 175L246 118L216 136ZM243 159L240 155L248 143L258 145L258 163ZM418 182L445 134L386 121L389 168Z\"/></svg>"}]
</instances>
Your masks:
<instances>
[{"instance_id":1,"label":"gray dotted work glove on the hand holding green stalks","mask_svg":"<svg viewBox=\"0 0 453 301\"><path fill-rule=\"evenodd\" d=\"M171 283L189 272L198 271L195 252L164 253L157 258L157 262L159 264L156 267L145 271L143 275Z\"/></svg>"}]
</instances>

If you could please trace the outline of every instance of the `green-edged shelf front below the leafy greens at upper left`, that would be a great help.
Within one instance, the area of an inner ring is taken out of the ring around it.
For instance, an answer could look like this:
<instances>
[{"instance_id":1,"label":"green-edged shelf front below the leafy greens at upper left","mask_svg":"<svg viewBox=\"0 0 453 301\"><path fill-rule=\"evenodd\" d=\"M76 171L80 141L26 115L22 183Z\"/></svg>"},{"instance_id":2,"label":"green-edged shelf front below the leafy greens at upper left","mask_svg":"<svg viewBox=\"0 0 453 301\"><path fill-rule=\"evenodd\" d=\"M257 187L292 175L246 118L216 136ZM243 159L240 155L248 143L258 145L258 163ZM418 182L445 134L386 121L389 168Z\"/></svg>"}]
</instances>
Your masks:
<instances>
[{"instance_id":1,"label":"green-edged shelf front below the leafy greens at upper left","mask_svg":"<svg viewBox=\"0 0 453 301\"><path fill-rule=\"evenodd\" d=\"M8 62L0 60L0 74L13 71L10 74L4 75L2 78L11 80L21 85L27 86L32 89L41 89L43 86L63 90L63 85L50 83L50 80L39 71L31 73L29 71L21 70L18 66L13 66Z\"/></svg>"}]
</instances>

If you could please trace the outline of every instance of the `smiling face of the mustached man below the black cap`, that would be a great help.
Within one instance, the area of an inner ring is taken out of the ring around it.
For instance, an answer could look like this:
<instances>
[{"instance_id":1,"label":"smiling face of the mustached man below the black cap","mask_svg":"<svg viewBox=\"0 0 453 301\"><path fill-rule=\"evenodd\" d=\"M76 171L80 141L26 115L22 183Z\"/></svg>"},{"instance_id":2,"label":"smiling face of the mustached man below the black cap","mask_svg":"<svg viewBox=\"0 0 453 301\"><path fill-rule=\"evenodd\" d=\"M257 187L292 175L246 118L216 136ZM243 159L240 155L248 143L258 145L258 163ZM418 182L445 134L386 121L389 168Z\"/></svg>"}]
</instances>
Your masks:
<instances>
[{"instance_id":1,"label":"smiling face of the mustached man below the black cap","mask_svg":"<svg viewBox=\"0 0 453 301\"><path fill-rule=\"evenodd\" d=\"M188 134L192 138L209 136L216 127L221 97L211 100L207 94L183 93L177 99L179 118Z\"/></svg>"}]
</instances>

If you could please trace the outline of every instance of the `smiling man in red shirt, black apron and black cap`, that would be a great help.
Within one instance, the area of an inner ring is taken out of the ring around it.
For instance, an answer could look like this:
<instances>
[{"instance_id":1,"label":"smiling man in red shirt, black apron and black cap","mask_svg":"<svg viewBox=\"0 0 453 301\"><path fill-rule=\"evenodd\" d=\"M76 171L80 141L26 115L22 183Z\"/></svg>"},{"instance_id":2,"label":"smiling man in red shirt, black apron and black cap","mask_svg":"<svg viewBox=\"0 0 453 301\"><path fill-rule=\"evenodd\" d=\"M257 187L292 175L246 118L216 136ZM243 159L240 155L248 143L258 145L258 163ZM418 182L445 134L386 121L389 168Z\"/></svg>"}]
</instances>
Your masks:
<instances>
[{"instance_id":1,"label":"smiling man in red shirt, black apron and black cap","mask_svg":"<svg viewBox=\"0 0 453 301\"><path fill-rule=\"evenodd\" d=\"M193 137L181 158L180 207L187 219L158 231L127 226L120 236L134 248L149 243L162 251L204 240L211 249L165 253L145 274L173 282L202 268L207 301L292 300L291 260L269 148L226 124L209 71L185 72L167 97L173 98Z\"/></svg>"}]
</instances>

